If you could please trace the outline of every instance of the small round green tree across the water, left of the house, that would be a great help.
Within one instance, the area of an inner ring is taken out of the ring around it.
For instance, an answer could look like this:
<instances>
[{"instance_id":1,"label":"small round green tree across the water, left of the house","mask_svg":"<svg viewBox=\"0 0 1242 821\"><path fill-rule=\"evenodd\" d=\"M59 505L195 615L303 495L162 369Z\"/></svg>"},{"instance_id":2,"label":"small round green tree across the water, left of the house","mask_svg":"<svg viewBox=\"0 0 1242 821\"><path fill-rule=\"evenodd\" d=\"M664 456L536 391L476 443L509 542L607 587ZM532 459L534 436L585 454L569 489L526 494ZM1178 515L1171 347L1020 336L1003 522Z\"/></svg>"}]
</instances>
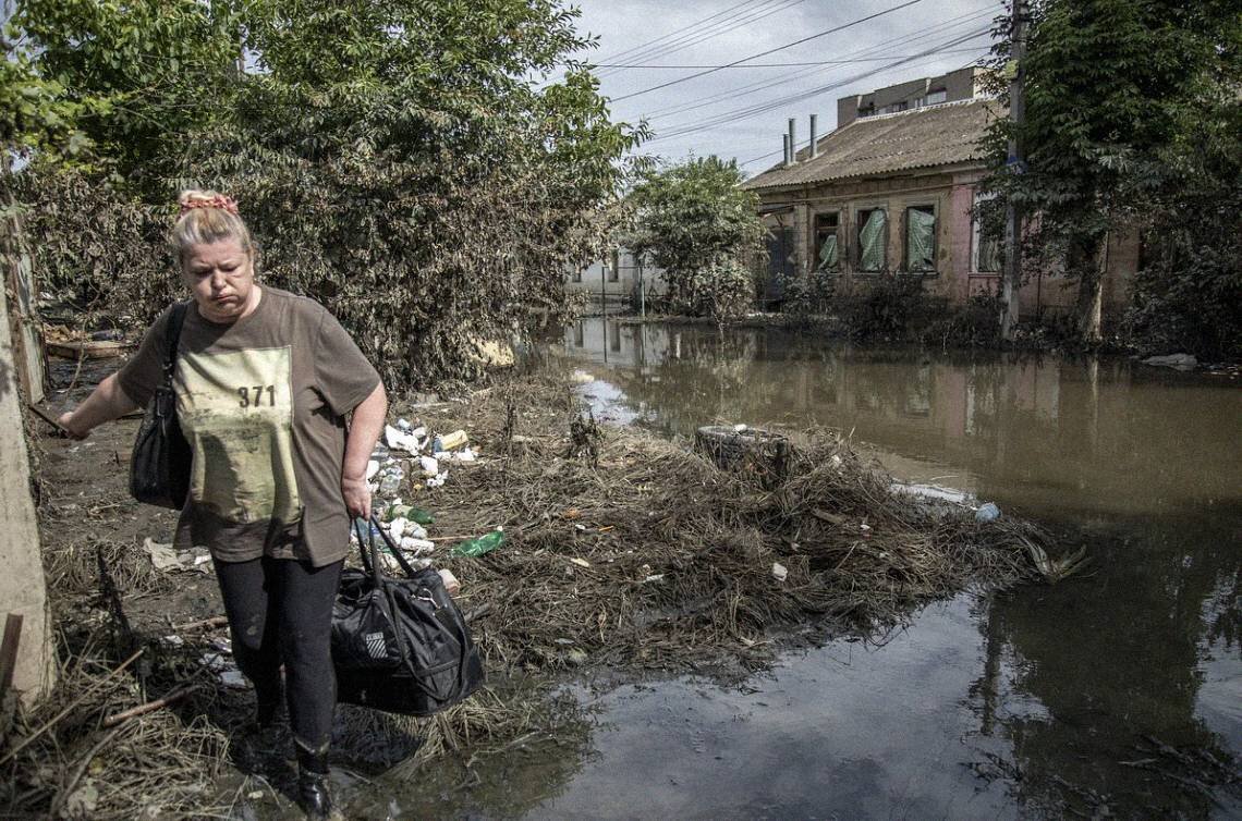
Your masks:
<instances>
[{"instance_id":1,"label":"small round green tree across the water, left of the house","mask_svg":"<svg viewBox=\"0 0 1242 821\"><path fill-rule=\"evenodd\" d=\"M630 195L627 242L664 270L674 309L724 318L753 304L764 229L741 179L735 160L698 158L648 170Z\"/></svg>"}]
</instances>

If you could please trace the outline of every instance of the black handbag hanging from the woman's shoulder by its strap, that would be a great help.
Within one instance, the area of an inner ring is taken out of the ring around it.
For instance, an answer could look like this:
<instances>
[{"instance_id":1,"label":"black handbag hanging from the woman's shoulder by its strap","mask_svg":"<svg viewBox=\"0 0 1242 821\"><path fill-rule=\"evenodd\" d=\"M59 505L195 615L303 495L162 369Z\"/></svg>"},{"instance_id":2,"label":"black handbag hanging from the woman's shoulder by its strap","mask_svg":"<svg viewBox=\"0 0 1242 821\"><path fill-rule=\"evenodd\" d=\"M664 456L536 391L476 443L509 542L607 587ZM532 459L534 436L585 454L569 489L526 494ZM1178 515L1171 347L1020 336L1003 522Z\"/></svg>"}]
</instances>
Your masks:
<instances>
[{"instance_id":1,"label":"black handbag hanging from the woman's shoulder by its strap","mask_svg":"<svg viewBox=\"0 0 1242 821\"><path fill-rule=\"evenodd\" d=\"M176 368L176 345L189 303L178 302L168 318L164 344L164 374L155 395L147 405L143 424L134 440L129 460L129 493L139 502L180 510L190 492L190 443L176 421L176 395L173 392L173 370Z\"/></svg>"}]
</instances>

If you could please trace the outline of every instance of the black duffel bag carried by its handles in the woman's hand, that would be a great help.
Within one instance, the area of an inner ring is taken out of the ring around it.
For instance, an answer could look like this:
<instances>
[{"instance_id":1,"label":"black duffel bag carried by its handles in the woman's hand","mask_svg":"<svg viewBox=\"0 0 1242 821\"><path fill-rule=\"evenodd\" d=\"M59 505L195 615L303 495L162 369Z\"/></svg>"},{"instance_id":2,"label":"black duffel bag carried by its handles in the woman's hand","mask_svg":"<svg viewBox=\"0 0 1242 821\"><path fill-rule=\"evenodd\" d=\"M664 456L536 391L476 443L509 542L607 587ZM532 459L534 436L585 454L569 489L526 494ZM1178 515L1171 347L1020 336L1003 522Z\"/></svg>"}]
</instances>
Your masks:
<instances>
[{"instance_id":1,"label":"black duffel bag carried by its handles in the woman's hand","mask_svg":"<svg viewBox=\"0 0 1242 821\"><path fill-rule=\"evenodd\" d=\"M483 663L440 574L415 570L373 517L355 522L363 569L342 573L332 611L337 701L404 715L431 715L483 683ZM405 579L384 574L375 532Z\"/></svg>"}]
</instances>

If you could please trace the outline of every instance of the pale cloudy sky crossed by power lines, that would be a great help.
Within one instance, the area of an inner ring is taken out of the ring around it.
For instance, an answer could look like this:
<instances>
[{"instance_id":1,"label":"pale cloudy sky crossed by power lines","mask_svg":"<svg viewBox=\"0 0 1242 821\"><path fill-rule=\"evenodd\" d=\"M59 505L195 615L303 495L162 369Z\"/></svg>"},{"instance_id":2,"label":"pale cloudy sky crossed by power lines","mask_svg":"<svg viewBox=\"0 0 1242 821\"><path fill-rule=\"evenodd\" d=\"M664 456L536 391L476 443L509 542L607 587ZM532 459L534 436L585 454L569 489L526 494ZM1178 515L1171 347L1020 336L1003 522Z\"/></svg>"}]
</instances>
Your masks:
<instances>
[{"instance_id":1,"label":"pale cloudy sky crossed by power lines","mask_svg":"<svg viewBox=\"0 0 1242 821\"><path fill-rule=\"evenodd\" d=\"M899 7L904 4L910 5ZM748 174L781 159L781 134L790 117L797 119L801 148L810 134L810 114L818 116L821 137L836 127L838 97L974 63L987 53L986 31L1004 11L1001 0L578 0L573 5L581 11L579 31L599 37L597 47L574 56L600 66L600 92L611 101L614 119L646 119L655 132L641 153L671 160L715 154L737 159ZM745 60L775 48L780 51ZM709 68L743 60L737 67ZM692 77L700 72L705 73ZM672 84L653 88L663 83ZM801 98L784 99L795 96Z\"/></svg>"}]
</instances>

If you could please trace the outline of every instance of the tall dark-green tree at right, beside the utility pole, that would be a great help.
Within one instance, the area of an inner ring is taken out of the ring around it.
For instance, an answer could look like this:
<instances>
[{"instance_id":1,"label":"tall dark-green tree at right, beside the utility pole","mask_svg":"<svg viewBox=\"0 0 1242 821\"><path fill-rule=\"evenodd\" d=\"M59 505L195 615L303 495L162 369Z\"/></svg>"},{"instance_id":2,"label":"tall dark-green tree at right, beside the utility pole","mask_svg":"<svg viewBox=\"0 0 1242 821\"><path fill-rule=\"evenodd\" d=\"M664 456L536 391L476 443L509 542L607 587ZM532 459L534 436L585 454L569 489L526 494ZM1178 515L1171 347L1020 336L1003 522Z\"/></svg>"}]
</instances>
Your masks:
<instances>
[{"instance_id":1,"label":"tall dark-green tree at right, beside the utility pole","mask_svg":"<svg viewBox=\"0 0 1242 821\"><path fill-rule=\"evenodd\" d=\"M1054 257L1078 281L1083 342L1099 340L1108 236L1151 214L1153 194L1176 186L1169 149L1190 112L1221 89L1236 94L1237 14L1232 4L1172 0L1041 0L1023 63L1026 120L997 122L987 186L1037 214L1026 247ZM997 65L1007 43L997 46ZM1228 63L1235 63L1230 68ZM1230 79L1232 77L1232 79ZM1004 88L999 89L1002 99ZM1011 133L1027 169L1011 174Z\"/></svg>"}]
</instances>

